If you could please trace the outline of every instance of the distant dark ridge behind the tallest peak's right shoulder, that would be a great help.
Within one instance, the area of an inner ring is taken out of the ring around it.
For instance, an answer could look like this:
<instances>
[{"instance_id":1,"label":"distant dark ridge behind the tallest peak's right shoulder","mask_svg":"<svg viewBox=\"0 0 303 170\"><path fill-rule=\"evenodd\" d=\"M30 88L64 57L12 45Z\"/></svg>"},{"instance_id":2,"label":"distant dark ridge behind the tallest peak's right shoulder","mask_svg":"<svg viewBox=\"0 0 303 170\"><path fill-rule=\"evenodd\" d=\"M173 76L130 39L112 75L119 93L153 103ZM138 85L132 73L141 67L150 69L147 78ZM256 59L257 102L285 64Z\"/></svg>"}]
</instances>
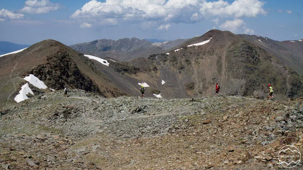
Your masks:
<instances>
[{"instance_id":1,"label":"distant dark ridge behind the tallest peak's right shoulder","mask_svg":"<svg viewBox=\"0 0 303 170\"><path fill-rule=\"evenodd\" d=\"M268 53L281 60L285 65L303 75L302 40L275 41L258 35L238 34L238 36L265 49Z\"/></svg>"}]
</instances>

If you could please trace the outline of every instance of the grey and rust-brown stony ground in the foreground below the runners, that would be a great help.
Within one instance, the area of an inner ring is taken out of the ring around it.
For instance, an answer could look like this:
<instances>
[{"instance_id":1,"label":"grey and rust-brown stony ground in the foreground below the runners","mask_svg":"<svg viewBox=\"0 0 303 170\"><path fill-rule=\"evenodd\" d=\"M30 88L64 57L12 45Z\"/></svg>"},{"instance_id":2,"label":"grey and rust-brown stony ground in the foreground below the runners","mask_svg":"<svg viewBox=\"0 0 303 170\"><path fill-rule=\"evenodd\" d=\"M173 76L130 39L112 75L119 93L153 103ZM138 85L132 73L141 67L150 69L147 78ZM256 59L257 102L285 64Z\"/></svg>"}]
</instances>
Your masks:
<instances>
[{"instance_id":1,"label":"grey and rust-brown stony ground in the foreground below the runners","mask_svg":"<svg viewBox=\"0 0 303 170\"><path fill-rule=\"evenodd\" d=\"M302 106L303 98L107 99L82 90L65 98L56 91L0 110L0 167L282 169L283 146L303 154Z\"/></svg>"}]
</instances>

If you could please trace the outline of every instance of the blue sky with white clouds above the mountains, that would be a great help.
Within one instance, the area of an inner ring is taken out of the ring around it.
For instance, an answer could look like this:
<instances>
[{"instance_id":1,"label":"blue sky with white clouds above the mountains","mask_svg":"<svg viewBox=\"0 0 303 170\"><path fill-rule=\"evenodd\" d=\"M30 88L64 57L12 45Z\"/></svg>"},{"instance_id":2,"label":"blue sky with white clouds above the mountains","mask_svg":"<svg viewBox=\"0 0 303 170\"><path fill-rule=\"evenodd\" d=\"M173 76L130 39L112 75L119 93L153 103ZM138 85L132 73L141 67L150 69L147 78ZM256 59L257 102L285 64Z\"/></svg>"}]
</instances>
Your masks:
<instances>
[{"instance_id":1,"label":"blue sky with white clouds above the mountains","mask_svg":"<svg viewBox=\"0 0 303 170\"><path fill-rule=\"evenodd\" d=\"M0 0L0 41L175 40L211 29L299 40L302 6L302 0Z\"/></svg>"}]
</instances>

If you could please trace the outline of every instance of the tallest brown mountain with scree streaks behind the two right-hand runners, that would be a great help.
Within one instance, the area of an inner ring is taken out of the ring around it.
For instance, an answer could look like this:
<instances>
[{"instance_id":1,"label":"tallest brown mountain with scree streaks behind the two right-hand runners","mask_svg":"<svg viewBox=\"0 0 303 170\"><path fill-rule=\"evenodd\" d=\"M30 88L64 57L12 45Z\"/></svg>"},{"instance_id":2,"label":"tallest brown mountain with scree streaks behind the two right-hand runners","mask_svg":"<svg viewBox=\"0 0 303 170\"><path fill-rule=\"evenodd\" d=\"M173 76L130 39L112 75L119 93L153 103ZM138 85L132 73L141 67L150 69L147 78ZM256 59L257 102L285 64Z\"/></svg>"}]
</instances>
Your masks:
<instances>
[{"instance_id":1,"label":"tallest brown mountain with scree streaks behind the two right-hand runners","mask_svg":"<svg viewBox=\"0 0 303 170\"><path fill-rule=\"evenodd\" d=\"M188 46L205 41L208 42L203 45ZM139 77L160 90L163 97L215 95L215 82L224 94L252 96L256 93L260 98L265 96L263 91L271 83L281 100L300 96L303 90L300 74L261 47L229 31L208 31L167 54L136 59L132 64L150 70ZM161 80L167 83L161 85Z\"/></svg>"}]
</instances>

